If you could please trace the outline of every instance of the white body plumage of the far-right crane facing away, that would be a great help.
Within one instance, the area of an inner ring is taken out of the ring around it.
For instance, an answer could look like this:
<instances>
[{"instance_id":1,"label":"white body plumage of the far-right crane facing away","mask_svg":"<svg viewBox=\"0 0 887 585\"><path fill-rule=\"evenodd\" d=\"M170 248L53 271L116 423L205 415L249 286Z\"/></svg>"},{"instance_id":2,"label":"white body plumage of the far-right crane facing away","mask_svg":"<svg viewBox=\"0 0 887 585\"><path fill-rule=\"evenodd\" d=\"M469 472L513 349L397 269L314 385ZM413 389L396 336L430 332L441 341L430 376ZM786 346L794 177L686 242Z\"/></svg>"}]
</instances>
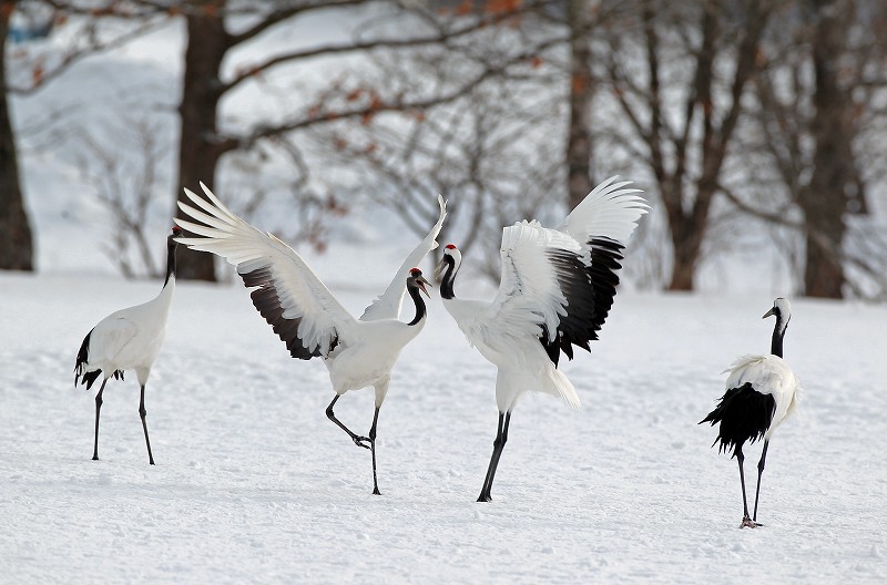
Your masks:
<instances>
[{"instance_id":1,"label":"white body plumage of the far-right crane facing away","mask_svg":"<svg viewBox=\"0 0 887 585\"><path fill-rule=\"evenodd\" d=\"M773 421L764 433L764 440L771 435L785 419L797 410L801 384L788 363L778 356L743 356L724 372L730 372L726 388L740 388L751 383L761 394L772 394L776 402Z\"/></svg>"}]
</instances>

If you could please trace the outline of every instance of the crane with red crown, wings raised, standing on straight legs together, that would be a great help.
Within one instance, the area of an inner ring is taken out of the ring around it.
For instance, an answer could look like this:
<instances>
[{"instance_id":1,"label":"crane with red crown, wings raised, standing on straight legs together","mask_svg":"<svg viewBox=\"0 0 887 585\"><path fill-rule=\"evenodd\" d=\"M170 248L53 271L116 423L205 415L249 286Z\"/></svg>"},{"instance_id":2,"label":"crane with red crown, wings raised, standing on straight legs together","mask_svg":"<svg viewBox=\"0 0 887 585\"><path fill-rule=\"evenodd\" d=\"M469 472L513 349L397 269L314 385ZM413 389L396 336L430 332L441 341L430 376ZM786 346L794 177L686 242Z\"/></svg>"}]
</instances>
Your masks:
<instances>
[{"instance_id":1,"label":"crane with red crown, wings raised, standing on straight legs together","mask_svg":"<svg viewBox=\"0 0 887 585\"><path fill-rule=\"evenodd\" d=\"M511 412L521 396L560 396L571 407L579 397L558 370L560 352L573 358L613 305L624 243L649 207L630 182L611 177L598 185L557 229L520 222L502 230L502 275L491 302L456 298L453 281L461 253L446 246L437 267L443 307L480 353L498 368L499 425L478 502L490 502L496 469L508 441Z\"/></svg>"}]
</instances>

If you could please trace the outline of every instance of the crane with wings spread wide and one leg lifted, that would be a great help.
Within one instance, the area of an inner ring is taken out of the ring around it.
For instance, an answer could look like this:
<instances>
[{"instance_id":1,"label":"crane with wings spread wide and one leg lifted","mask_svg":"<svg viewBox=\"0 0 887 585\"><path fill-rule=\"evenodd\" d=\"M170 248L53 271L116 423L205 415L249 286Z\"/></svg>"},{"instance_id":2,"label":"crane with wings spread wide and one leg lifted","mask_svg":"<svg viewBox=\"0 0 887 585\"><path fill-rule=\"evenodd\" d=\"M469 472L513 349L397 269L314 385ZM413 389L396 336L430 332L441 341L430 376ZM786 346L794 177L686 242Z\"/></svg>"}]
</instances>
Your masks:
<instances>
[{"instance_id":1,"label":"crane with wings spread wide and one leg lifted","mask_svg":"<svg viewBox=\"0 0 887 585\"><path fill-rule=\"evenodd\" d=\"M237 267L246 287L257 287L251 294L253 305L286 343L292 357L323 358L336 392L326 415L348 433L356 445L370 450L373 493L378 495L376 428L379 409L400 351L419 335L426 322L425 301L419 291L427 296L425 287L430 285L421 270L414 267L437 247L435 238L447 216L443 198L438 196L440 215L431 230L407 256L385 292L355 319L293 248L234 215L203 183L201 187L206 199L185 189L200 209L179 203L182 212L201 224L182 219L176 223L202 237L179 238L179 242L225 258ZM416 306L416 316L410 322L398 320L405 290ZM369 437L360 437L336 418L333 407L348 390L369 386L376 391L376 410Z\"/></svg>"}]
</instances>

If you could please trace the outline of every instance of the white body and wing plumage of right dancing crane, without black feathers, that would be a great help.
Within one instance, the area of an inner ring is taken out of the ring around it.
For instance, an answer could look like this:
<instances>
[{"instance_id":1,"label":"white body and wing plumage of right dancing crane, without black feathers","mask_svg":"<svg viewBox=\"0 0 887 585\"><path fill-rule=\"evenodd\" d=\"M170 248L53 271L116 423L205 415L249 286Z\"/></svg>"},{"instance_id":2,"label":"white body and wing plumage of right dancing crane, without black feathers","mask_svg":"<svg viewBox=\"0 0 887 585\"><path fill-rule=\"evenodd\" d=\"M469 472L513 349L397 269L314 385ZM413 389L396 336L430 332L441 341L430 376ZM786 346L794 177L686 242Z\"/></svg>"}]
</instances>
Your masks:
<instances>
[{"instance_id":1,"label":"white body and wing plumage of right dancing crane, without black feathers","mask_svg":"<svg viewBox=\"0 0 887 585\"><path fill-rule=\"evenodd\" d=\"M498 368L496 402L500 412L511 412L521 396L539 391L580 406L570 380L557 369L540 343L542 331L555 341L571 315L570 298L587 297L590 281L552 256L569 258L585 269L591 264L592 238L624 243L646 213L639 189L622 188L629 182L611 177L583 199L558 228L539 222L519 222L502 230L502 274L492 301L443 298L443 307L468 341ZM459 255L461 261L461 255ZM457 267L458 269L458 267ZM571 288L575 288L572 290ZM588 298L583 299L588 301ZM588 308L588 307L583 307Z\"/></svg>"}]
</instances>

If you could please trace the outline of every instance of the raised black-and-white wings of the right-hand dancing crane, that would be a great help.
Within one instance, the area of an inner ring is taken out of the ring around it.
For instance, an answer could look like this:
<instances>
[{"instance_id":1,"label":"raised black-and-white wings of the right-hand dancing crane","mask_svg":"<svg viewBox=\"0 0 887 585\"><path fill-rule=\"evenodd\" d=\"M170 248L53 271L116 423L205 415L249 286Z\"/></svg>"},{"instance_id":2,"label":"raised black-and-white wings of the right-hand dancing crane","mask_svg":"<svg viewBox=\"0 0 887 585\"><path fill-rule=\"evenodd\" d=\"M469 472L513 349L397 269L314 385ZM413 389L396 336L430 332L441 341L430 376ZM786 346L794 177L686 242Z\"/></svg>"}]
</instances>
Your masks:
<instances>
[{"instance_id":1,"label":"raised black-and-white wings of the right-hand dancing crane","mask_svg":"<svg viewBox=\"0 0 887 585\"><path fill-rule=\"evenodd\" d=\"M638 189L611 177L592 191L559 229L521 222L502 230L502 276L491 318L541 327L555 365L572 345L590 350L616 292L623 242L648 211Z\"/></svg>"}]
</instances>

